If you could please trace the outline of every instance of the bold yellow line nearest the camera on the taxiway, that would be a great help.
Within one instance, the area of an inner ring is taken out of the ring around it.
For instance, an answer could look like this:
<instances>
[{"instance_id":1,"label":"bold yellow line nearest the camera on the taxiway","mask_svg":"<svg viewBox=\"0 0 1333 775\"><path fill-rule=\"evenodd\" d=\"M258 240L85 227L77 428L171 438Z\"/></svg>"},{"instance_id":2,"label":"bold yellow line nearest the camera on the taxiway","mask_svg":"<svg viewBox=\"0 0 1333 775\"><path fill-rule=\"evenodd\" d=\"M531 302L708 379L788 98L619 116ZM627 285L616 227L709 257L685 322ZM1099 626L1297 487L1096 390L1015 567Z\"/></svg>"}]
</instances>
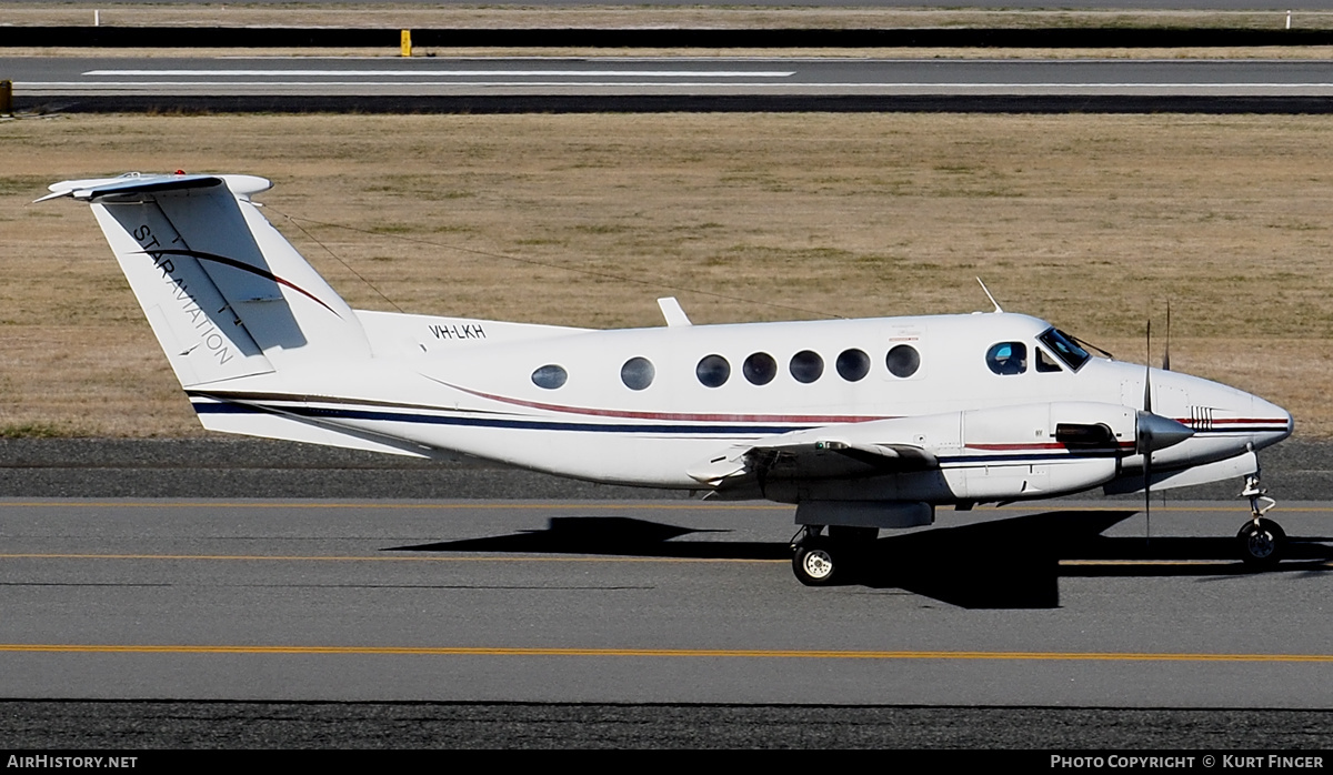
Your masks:
<instances>
[{"instance_id":1,"label":"bold yellow line nearest the camera on the taxiway","mask_svg":"<svg viewBox=\"0 0 1333 775\"><path fill-rule=\"evenodd\" d=\"M746 659L941 659L1005 662L1333 662L1333 654L1173 654L1114 651L826 651L769 648L499 648L409 646L99 646L0 643L0 652L45 654L296 654L416 656L629 656Z\"/></svg>"}]
</instances>

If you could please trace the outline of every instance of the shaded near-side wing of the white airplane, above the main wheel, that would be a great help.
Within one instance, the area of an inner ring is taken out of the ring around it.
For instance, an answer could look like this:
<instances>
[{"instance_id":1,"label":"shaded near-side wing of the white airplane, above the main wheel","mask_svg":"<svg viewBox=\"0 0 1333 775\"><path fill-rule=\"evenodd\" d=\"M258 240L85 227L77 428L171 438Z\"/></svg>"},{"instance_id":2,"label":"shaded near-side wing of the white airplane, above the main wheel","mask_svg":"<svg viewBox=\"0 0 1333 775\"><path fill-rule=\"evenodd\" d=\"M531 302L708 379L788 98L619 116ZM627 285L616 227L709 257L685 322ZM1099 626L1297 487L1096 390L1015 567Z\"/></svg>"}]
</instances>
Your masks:
<instances>
[{"instance_id":1,"label":"shaded near-side wing of the white airplane, above the main wheel","mask_svg":"<svg viewBox=\"0 0 1333 775\"><path fill-rule=\"evenodd\" d=\"M820 439L797 443L741 445L693 466L689 475L710 486L740 479L845 479L924 471L938 467L929 451L905 443L857 443Z\"/></svg>"}]
</instances>

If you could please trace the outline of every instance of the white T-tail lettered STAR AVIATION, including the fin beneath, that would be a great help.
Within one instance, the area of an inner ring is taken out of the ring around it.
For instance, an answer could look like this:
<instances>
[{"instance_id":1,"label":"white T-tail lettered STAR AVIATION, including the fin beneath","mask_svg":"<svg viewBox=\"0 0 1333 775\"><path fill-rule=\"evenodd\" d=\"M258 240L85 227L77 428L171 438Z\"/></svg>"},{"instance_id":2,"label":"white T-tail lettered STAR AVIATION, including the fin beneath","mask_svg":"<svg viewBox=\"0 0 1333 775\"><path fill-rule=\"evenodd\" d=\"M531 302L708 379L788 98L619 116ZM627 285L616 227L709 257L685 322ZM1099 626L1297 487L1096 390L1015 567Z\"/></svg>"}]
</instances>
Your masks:
<instances>
[{"instance_id":1,"label":"white T-tail lettered STAR AVIATION, including the fin beneath","mask_svg":"<svg viewBox=\"0 0 1333 775\"><path fill-rule=\"evenodd\" d=\"M271 185L245 174L129 173L57 182L39 201L69 196L92 205L205 427L415 454L309 418L208 398L260 376L269 376L260 378L265 385L295 386L301 374L355 370L371 357L357 314L251 201Z\"/></svg>"}]
</instances>

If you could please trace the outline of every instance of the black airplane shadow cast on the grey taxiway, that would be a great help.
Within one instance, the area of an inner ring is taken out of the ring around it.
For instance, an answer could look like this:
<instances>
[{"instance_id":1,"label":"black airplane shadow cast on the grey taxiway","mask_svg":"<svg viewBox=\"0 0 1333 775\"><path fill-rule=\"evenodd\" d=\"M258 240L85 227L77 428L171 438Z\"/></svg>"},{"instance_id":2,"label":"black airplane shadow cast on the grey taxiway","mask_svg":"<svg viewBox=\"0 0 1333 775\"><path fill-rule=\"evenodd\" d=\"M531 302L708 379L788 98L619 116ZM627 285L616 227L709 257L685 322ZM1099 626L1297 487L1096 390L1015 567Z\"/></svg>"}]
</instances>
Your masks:
<instances>
[{"instance_id":1,"label":"black airplane shadow cast on the grey taxiway","mask_svg":"<svg viewBox=\"0 0 1333 775\"><path fill-rule=\"evenodd\" d=\"M958 527L889 533L865 550L846 583L902 589L965 609L1060 606L1061 577L1224 577L1256 573L1237 559L1234 537L1112 538L1106 530L1137 511L1044 511ZM384 551L605 554L688 559L789 559L786 543L676 541L726 533L629 517L553 517L545 530L469 538ZM1065 561L1061 565L1061 561ZM1082 561L1082 562L1078 562ZM1274 571L1328 573L1333 538L1290 537Z\"/></svg>"}]
</instances>

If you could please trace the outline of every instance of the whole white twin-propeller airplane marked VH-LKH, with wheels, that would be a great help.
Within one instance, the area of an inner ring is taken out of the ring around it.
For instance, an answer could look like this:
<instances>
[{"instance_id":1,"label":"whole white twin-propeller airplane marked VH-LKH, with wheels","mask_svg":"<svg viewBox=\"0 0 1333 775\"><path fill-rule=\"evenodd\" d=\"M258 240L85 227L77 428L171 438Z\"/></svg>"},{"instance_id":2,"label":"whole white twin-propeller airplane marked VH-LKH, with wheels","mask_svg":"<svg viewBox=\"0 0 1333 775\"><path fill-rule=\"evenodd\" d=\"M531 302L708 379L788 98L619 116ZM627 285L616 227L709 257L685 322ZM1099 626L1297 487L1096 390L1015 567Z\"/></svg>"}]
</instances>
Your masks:
<instances>
[{"instance_id":1,"label":"whole white twin-propeller airplane marked VH-LKH, with wheels","mask_svg":"<svg viewBox=\"0 0 1333 775\"><path fill-rule=\"evenodd\" d=\"M129 173L37 200L92 205L209 430L794 503L806 585L938 506L1230 477L1253 511L1241 555L1281 555L1256 451L1292 415L1249 393L998 305L694 326L664 298L665 326L631 330L353 310L251 201L271 185Z\"/></svg>"}]
</instances>

